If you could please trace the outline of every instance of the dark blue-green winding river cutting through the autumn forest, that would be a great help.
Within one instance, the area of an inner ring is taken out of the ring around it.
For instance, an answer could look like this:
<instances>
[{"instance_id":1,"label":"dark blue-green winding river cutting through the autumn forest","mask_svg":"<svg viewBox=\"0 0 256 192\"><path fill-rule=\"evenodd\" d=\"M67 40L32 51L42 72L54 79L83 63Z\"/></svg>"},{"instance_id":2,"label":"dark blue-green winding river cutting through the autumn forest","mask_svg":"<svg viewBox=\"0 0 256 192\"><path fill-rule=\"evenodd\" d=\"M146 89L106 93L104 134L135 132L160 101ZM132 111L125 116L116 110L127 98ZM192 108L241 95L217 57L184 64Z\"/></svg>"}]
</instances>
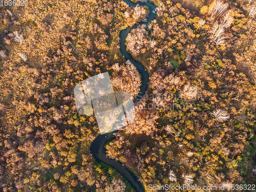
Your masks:
<instances>
[{"instance_id":1,"label":"dark blue-green winding river cutting through the autumn forest","mask_svg":"<svg viewBox=\"0 0 256 192\"><path fill-rule=\"evenodd\" d=\"M142 24L147 25L148 23L151 23L152 20L156 17L156 13L154 12L156 6L151 2L146 2L146 3L139 2L139 3L135 4L129 0L123 0L123 1L125 3L127 3L129 5L129 7L132 7L132 8L135 7L137 4L139 4L139 6L150 7L150 14L149 14L146 22L140 22L140 23L138 23L138 25L142 25ZM124 29L120 32L120 51L121 51L122 55L124 56L125 60L130 60L142 76L142 84L141 84L140 93L139 93L137 99L141 98L139 96L143 96L145 94L145 91L147 89L147 83L149 81L149 76L148 76L147 71L141 65L141 63L134 60L132 55L126 51L125 39L126 39L127 35L131 32L131 30L138 27L138 25L135 25L133 27L127 27L126 29ZM115 132L117 132L117 131L115 131ZM104 135L99 135L91 144L90 149L91 149L92 154L94 155L94 157L96 158L97 161L103 162L105 164L108 164L108 165L111 165L112 167L114 167L117 170L117 172L121 173L123 175L123 177L131 183L131 185L134 187L134 189L136 191L138 191L138 192L145 191L142 184L138 181L138 178L132 172L130 172L126 167L122 166L121 162L106 157L106 149L104 148L104 145L106 143L108 143L109 141L111 141L115 137L113 135L113 133L115 133L115 132L107 133Z\"/></svg>"}]
</instances>

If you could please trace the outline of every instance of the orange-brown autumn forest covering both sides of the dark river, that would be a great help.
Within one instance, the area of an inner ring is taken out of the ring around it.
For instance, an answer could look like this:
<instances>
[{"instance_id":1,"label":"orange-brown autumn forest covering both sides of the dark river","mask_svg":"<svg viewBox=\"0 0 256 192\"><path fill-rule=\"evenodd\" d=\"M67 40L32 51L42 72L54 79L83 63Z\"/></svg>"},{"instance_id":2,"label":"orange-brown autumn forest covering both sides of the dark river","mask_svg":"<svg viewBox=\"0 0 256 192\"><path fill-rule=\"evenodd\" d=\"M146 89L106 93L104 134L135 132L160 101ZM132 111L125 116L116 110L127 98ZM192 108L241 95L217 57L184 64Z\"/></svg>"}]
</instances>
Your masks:
<instances>
[{"instance_id":1,"label":"orange-brown autumn forest covering both sides of the dark river","mask_svg":"<svg viewBox=\"0 0 256 192\"><path fill-rule=\"evenodd\" d=\"M107 156L145 191L255 184L256 1L151 2L156 18L125 42L150 82ZM119 34L148 8L30 0L0 10L0 191L135 191L93 157L96 118L77 113L73 90L109 72L114 90L136 100L141 75L123 58Z\"/></svg>"}]
</instances>

